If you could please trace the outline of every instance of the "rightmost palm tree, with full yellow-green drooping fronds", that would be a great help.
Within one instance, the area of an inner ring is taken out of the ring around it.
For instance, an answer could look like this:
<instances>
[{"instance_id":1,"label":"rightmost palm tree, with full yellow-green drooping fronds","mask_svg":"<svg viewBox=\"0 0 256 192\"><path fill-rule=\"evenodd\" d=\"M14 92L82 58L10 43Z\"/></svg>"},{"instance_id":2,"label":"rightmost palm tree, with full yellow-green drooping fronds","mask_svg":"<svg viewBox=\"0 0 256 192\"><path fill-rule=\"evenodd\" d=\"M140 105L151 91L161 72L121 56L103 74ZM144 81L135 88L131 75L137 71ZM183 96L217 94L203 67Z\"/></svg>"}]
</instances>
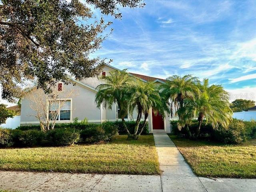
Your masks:
<instances>
[{"instance_id":1,"label":"rightmost palm tree, with full yellow-green drooping fronds","mask_svg":"<svg viewBox=\"0 0 256 192\"><path fill-rule=\"evenodd\" d=\"M198 114L198 128L196 138L200 133L203 119L206 123L211 123L214 129L221 125L228 128L232 121L232 110L230 109L229 95L221 85L209 86L209 80L204 79L202 83L197 84L199 92L195 94L194 105L196 114Z\"/></svg>"}]
</instances>

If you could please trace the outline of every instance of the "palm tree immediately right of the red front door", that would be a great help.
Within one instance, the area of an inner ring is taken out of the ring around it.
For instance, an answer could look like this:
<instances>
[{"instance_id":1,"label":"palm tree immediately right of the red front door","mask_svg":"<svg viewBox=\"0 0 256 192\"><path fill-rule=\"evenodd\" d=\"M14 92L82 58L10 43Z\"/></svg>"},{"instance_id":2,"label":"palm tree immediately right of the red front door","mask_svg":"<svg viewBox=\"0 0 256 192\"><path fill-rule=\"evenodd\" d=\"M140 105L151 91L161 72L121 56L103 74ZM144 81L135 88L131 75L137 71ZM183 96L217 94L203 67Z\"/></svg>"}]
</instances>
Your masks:
<instances>
[{"instance_id":1,"label":"palm tree immediately right of the red front door","mask_svg":"<svg viewBox=\"0 0 256 192\"><path fill-rule=\"evenodd\" d=\"M181 130L183 127L186 127L188 135L191 136L190 130L188 128L188 123L192 118L192 111L189 112L186 108L185 99L193 95L194 92L197 92L196 83L198 82L197 77L192 77L191 75L185 76L170 76L166 79L166 84L162 84L160 87L160 92L162 95L165 95L167 99L166 102L170 101L171 106L171 116L173 115L173 107L178 114L179 122L178 129Z\"/></svg>"}]
</instances>

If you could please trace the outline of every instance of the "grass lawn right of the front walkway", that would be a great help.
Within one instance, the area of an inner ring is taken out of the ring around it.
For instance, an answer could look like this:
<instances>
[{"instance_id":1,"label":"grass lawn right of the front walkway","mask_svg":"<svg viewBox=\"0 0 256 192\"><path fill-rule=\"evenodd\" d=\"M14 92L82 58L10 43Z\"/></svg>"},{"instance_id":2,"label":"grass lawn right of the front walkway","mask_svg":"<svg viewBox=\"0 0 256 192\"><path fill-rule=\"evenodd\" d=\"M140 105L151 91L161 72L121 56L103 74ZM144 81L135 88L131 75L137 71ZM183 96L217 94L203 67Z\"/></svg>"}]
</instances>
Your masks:
<instances>
[{"instance_id":1,"label":"grass lawn right of the front walkway","mask_svg":"<svg viewBox=\"0 0 256 192\"><path fill-rule=\"evenodd\" d=\"M256 178L256 139L242 145L222 145L170 138L198 176Z\"/></svg>"}]
</instances>

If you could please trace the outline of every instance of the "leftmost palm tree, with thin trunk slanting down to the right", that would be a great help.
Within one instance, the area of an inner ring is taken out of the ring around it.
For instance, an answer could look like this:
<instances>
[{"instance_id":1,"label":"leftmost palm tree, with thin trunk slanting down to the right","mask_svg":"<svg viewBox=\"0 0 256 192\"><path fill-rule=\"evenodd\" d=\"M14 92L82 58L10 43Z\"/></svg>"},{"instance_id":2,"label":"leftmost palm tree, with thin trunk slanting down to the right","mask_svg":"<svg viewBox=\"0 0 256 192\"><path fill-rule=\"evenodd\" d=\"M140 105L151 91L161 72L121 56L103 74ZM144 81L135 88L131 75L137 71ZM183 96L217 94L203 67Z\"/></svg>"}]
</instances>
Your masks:
<instances>
[{"instance_id":1,"label":"leftmost palm tree, with thin trunk slanting down to the right","mask_svg":"<svg viewBox=\"0 0 256 192\"><path fill-rule=\"evenodd\" d=\"M110 75L104 77L105 83L97 86L96 89L99 91L96 94L95 101L97 106L100 107L104 104L104 108L112 109L112 104L118 104L119 118L122 119L123 126L127 131L128 136L131 136L126 124L124 117L128 112L128 101L130 100L129 90L131 88L134 78L130 76L126 69L119 71L114 70L110 72Z\"/></svg>"}]
</instances>

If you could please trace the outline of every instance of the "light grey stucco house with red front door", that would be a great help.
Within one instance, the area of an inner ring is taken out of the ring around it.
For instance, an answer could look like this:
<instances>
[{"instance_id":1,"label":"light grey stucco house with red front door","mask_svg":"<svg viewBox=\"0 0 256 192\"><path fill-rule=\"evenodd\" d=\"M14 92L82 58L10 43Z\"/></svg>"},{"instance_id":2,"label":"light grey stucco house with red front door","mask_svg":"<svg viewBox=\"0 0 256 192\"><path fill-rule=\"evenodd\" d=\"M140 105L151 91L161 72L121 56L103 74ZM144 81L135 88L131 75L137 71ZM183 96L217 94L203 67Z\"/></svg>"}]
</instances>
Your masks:
<instances>
[{"instance_id":1,"label":"light grey stucco house with red front door","mask_svg":"<svg viewBox=\"0 0 256 192\"><path fill-rule=\"evenodd\" d=\"M113 66L106 64L103 68L102 75L108 76L109 72L112 70L119 70ZM153 81L157 85L165 83L166 80L160 78L154 78L139 74L130 73L131 76L135 76L140 80L147 82ZM83 120L84 118L88 119L90 123L101 123L104 121L116 121L118 120L118 106L113 104L112 110L104 109L103 106L98 108L95 103L95 96L98 90L96 87L102 83L104 83L103 79L92 77L85 78L83 80L75 80L71 79L72 82L76 84L65 85L61 82L58 83L57 90L61 93L63 90L70 91L72 89L76 89L79 93L76 96L68 96L65 98L65 104L60 110L60 114L58 114L56 123L70 123L74 120L74 118L78 118L78 122ZM33 94L37 89L31 90ZM61 99L61 98L60 98ZM21 125L32 125L39 124L38 120L35 118L35 110L31 108L31 100L28 96L23 96L21 98L21 116L20 116L20 124ZM165 114L163 118L160 113L154 115L154 112L151 110L148 117L149 131L153 132L154 130L160 132L171 132L170 128L170 114ZM133 115L127 115L126 120L136 120L136 111L134 111Z\"/></svg>"}]
</instances>

